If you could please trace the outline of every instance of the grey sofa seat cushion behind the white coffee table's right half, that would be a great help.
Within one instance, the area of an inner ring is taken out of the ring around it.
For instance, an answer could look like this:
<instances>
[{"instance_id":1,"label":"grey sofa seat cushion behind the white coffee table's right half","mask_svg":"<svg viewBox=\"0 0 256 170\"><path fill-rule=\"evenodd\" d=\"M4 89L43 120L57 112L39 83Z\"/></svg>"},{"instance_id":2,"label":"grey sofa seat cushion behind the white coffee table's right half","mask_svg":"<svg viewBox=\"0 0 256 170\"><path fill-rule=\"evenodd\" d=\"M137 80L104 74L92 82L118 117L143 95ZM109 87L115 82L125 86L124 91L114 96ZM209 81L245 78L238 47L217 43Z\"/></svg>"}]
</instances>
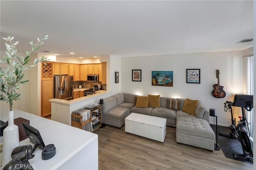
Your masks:
<instances>
[{"instance_id":1,"label":"grey sofa seat cushion behind the white coffee table's right half","mask_svg":"<svg viewBox=\"0 0 256 170\"><path fill-rule=\"evenodd\" d=\"M166 107L155 107L151 111L152 116L176 119L176 110L167 109Z\"/></svg>"}]
</instances>

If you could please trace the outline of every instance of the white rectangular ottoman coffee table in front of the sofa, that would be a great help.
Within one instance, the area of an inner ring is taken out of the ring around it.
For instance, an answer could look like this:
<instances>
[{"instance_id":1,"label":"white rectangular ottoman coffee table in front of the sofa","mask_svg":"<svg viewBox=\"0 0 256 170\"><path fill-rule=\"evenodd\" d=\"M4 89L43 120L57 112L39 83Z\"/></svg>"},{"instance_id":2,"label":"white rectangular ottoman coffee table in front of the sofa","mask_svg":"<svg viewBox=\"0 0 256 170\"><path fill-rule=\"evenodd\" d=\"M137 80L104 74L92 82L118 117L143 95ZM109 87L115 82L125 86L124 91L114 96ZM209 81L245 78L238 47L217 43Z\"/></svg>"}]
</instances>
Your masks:
<instances>
[{"instance_id":1,"label":"white rectangular ottoman coffee table in front of the sofa","mask_svg":"<svg viewBox=\"0 0 256 170\"><path fill-rule=\"evenodd\" d=\"M164 142L166 135L166 119L131 113L125 118L125 131L134 135Z\"/></svg>"}]
</instances>

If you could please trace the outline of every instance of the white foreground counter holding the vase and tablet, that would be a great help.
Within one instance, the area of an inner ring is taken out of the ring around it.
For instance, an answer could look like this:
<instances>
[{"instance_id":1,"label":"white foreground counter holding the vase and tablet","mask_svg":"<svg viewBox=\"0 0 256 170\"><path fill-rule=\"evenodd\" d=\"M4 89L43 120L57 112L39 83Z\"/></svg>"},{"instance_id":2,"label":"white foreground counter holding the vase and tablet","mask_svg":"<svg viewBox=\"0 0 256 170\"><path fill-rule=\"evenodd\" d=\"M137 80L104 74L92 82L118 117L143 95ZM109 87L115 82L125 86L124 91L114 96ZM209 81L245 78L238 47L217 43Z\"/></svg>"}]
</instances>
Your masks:
<instances>
[{"instance_id":1,"label":"white foreground counter holding the vase and tablet","mask_svg":"<svg viewBox=\"0 0 256 170\"><path fill-rule=\"evenodd\" d=\"M56 155L49 160L42 160L42 149L35 150L34 158L29 160L34 170L98 169L98 135L14 109L14 118L18 117L28 119L40 131L45 145L56 147ZM8 120L7 106L1 106L1 120ZM34 146L29 139L20 142L20 145L28 144Z\"/></svg>"}]
</instances>

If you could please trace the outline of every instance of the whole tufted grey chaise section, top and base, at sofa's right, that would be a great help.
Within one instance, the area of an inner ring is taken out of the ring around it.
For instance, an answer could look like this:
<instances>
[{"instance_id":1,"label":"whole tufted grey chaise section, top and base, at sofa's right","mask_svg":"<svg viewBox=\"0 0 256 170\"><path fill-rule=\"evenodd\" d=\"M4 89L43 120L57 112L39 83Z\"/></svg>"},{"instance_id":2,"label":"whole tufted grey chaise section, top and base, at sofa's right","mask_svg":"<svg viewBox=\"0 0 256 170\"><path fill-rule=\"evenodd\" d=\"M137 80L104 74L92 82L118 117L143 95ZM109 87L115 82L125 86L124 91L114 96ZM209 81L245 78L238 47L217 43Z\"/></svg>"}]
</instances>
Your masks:
<instances>
[{"instance_id":1,"label":"whole tufted grey chaise section, top and base, at sofa's right","mask_svg":"<svg viewBox=\"0 0 256 170\"><path fill-rule=\"evenodd\" d=\"M214 150L215 133L208 121L195 117L176 117L176 142Z\"/></svg>"}]
</instances>

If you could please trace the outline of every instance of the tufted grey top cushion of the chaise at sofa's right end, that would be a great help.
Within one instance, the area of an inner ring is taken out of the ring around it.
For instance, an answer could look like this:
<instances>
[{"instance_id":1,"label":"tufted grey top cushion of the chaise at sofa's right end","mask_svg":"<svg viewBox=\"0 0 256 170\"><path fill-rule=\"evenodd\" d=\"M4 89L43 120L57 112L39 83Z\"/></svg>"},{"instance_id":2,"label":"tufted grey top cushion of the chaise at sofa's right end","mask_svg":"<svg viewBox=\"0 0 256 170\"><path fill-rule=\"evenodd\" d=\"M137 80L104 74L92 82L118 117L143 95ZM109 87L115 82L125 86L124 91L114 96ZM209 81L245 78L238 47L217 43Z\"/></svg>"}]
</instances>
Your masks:
<instances>
[{"instance_id":1,"label":"tufted grey top cushion of the chaise at sofa's right end","mask_svg":"<svg viewBox=\"0 0 256 170\"><path fill-rule=\"evenodd\" d=\"M215 133L208 121L194 117L177 117L176 133L215 139Z\"/></svg>"}]
</instances>

